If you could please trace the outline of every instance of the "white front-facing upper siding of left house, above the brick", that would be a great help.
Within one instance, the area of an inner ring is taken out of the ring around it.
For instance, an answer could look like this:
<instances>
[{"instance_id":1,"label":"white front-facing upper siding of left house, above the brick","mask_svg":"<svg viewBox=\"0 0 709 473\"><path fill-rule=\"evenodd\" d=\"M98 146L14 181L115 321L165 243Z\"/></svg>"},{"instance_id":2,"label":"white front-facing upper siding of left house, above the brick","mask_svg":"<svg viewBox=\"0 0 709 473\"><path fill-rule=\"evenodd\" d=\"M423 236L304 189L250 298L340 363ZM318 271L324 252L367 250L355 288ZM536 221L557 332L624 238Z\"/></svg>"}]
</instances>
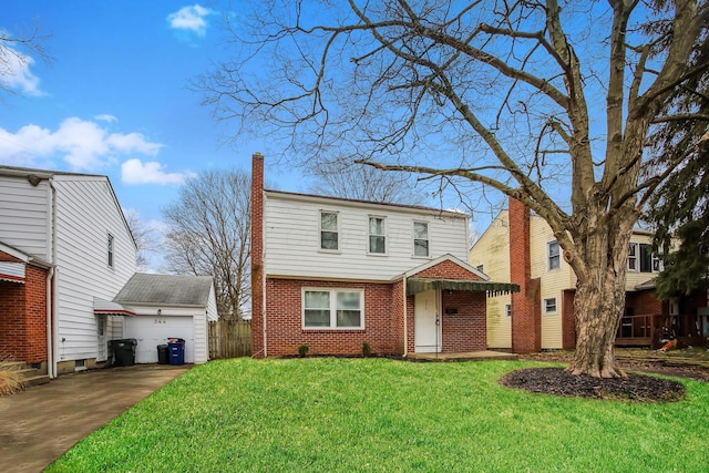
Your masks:
<instances>
[{"instance_id":1,"label":"white front-facing upper siding of left house, above the brick","mask_svg":"<svg viewBox=\"0 0 709 473\"><path fill-rule=\"evenodd\" d=\"M0 176L0 241L50 260L51 189L24 177Z\"/></svg>"}]
</instances>

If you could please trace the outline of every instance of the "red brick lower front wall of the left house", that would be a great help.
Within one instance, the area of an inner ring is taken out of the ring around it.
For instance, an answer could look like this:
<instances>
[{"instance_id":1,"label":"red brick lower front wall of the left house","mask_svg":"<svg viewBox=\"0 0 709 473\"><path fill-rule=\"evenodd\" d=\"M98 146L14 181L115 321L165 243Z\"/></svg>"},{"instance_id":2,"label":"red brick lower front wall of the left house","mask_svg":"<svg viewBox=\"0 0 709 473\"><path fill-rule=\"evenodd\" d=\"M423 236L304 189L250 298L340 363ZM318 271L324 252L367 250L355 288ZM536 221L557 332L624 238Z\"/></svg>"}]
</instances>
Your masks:
<instances>
[{"instance_id":1,"label":"red brick lower front wall of the left house","mask_svg":"<svg viewBox=\"0 0 709 473\"><path fill-rule=\"evenodd\" d=\"M1 359L47 361L45 269L28 265L24 284L0 281Z\"/></svg>"}]
</instances>

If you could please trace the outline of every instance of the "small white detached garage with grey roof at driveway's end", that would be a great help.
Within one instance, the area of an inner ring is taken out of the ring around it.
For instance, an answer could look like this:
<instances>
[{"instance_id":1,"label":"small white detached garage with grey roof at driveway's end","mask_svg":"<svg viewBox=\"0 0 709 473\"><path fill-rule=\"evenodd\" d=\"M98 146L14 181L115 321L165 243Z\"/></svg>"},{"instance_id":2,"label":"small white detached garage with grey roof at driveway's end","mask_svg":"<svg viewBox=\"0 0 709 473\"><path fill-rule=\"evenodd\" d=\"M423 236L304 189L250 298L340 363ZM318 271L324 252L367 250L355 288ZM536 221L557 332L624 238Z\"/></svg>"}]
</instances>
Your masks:
<instances>
[{"instance_id":1,"label":"small white detached garage with grey roof at driveway's end","mask_svg":"<svg viewBox=\"0 0 709 473\"><path fill-rule=\"evenodd\" d=\"M217 320L210 276L135 274L113 299L135 312L125 317L123 338L137 340L136 363L156 363L157 346L185 340L185 362L209 359L208 322Z\"/></svg>"}]
</instances>

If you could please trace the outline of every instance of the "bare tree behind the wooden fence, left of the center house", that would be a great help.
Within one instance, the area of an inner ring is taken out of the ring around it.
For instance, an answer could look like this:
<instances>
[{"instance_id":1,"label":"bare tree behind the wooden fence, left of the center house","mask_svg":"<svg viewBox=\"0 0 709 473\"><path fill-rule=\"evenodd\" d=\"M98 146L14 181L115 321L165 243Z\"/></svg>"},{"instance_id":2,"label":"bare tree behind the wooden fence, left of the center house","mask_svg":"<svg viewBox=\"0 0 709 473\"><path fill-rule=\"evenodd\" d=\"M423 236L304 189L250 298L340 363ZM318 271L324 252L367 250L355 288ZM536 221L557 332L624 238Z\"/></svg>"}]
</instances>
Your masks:
<instances>
[{"instance_id":1,"label":"bare tree behind the wooden fence, left of the center house","mask_svg":"<svg viewBox=\"0 0 709 473\"><path fill-rule=\"evenodd\" d=\"M163 209L167 269L213 276L220 318L247 315L250 301L250 177L207 171L185 183Z\"/></svg>"}]
</instances>

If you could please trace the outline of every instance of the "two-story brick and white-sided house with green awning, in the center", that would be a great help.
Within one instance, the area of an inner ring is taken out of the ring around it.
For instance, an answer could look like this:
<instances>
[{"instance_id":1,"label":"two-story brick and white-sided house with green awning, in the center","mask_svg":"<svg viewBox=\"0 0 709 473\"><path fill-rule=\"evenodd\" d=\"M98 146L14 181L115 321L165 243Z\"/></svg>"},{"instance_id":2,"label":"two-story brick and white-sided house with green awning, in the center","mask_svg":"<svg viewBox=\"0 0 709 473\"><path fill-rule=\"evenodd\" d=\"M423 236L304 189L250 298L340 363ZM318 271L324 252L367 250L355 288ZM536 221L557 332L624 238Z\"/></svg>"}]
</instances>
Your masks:
<instances>
[{"instance_id":1,"label":"two-story brick and white-sided house with green awning, in the center","mask_svg":"<svg viewBox=\"0 0 709 473\"><path fill-rule=\"evenodd\" d=\"M264 189L251 177L253 352L464 352L487 348L487 291L471 267L469 216Z\"/></svg>"}]
</instances>

